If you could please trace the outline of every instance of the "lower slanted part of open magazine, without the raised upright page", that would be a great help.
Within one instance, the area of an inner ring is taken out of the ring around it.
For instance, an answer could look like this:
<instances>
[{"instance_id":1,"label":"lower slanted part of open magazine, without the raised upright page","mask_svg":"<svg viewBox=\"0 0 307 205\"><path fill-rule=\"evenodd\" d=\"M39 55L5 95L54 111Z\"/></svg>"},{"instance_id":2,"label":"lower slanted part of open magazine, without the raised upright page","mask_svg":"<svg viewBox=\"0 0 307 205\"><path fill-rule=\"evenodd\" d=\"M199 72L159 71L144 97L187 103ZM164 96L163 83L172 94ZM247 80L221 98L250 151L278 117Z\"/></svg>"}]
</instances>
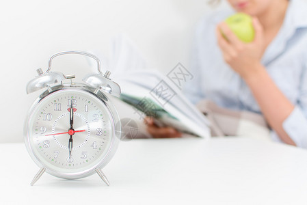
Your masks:
<instances>
[{"instance_id":1,"label":"lower slanted part of open magazine, without the raised upright page","mask_svg":"<svg viewBox=\"0 0 307 205\"><path fill-rule=\"evenodd\" d=\"M152 116L159 126L172 126L198 137L210 137L209 120L157 70L139 70L114 79L122 88L120 99L140 117Z\"/></svg>"}]
</instances>

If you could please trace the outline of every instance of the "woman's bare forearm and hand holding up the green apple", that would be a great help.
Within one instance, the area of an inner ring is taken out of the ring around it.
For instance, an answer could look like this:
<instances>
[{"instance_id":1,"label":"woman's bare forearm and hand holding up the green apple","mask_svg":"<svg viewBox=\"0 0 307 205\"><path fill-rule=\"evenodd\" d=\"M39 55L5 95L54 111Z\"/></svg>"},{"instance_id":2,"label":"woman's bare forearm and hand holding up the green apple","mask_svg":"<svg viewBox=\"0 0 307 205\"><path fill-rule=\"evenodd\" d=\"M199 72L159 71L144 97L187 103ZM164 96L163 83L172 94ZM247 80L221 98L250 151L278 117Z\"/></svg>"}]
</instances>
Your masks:
<instances>
[{"instance_id":1,"label":"woman's bare forearm and hand holding up the green apple","mask_svg":"<svg viewBox=\"0 0 307 205\"><path fill-rule=\"evenodd\" d=\"M246 44L235 36L226 23L219 23L216 29L219 47L226 63L241 75L252 91L269 126L282 141L295 146L295 142L283 128L284 120L289 117L294 105L282 94L265 67L261 65L261 57L265 51L263 28L256 18L253 19L253 25L255 39ZM222 36L221 31L228 40Z\"/></svg>"}]
</instances>

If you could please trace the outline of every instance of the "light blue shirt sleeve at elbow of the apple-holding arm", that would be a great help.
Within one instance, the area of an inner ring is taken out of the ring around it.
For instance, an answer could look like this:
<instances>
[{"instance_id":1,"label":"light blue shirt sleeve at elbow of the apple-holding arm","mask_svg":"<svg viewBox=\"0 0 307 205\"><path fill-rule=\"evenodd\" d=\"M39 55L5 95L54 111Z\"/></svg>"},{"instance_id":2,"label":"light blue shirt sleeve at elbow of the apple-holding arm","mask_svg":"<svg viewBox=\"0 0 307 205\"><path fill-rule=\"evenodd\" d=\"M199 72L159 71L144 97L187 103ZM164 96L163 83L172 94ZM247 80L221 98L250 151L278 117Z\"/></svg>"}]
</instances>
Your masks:
<instances>
[{"instance_id":1,"label":"light blue shirt sleeve at elbow of the apple-holding arm","mask_svg":"<svg viewBox=\"0 0 307 205\"><path fill-rule=\"evenodd\" d=\"M307 148L307 73L306 65L299 88L299 98L295 109L284 120L284 131L300 148Z\"/></svg>"}]
</instances>

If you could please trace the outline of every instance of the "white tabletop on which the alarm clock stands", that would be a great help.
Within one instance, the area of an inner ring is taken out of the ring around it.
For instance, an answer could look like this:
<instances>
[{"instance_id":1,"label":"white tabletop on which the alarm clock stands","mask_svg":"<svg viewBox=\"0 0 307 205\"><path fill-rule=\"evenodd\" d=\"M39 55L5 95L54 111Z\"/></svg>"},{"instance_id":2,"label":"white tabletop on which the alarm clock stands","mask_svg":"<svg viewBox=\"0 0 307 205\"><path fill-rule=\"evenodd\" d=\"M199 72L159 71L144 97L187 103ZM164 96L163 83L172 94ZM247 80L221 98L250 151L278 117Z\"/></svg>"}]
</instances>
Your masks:
<instances>
[{"instance_id":1,"label":"white tabletop on which the alarm clock stands","mask_svg":"<svg viewBox=\"0 0 307 205\"><path fill-rule=\"evenodd\" d=\"M1 144L0 204L307 204L307 151L255 139L133 139L97 174L38 172L23 144Z\"/></svg>"}]
</instances>

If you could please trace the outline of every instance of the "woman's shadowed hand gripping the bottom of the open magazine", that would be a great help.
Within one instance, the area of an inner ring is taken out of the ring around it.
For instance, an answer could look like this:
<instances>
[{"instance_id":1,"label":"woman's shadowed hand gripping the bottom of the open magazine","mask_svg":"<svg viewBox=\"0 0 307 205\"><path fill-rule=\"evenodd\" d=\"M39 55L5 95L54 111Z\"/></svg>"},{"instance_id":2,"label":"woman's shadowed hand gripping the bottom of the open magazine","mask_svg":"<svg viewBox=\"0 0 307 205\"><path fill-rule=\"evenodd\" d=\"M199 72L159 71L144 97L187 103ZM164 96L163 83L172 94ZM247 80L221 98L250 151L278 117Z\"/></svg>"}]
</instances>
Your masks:
<instances>
[{"instance_id":1,"label":"woman's shadowed hand gripping the bottom of the open magazine","mask_svg":"<svg viewBox=\"0 0 307 205\"><path fill-rule=\"evenodd\" d=\"M159 127L155 124L152 118L145 118L145 124L147 125L147 131L152 135L153 138L176 138L181 137L181 133L176 131L176 129L167 126Z\"/></svg>"}]
</instances>

